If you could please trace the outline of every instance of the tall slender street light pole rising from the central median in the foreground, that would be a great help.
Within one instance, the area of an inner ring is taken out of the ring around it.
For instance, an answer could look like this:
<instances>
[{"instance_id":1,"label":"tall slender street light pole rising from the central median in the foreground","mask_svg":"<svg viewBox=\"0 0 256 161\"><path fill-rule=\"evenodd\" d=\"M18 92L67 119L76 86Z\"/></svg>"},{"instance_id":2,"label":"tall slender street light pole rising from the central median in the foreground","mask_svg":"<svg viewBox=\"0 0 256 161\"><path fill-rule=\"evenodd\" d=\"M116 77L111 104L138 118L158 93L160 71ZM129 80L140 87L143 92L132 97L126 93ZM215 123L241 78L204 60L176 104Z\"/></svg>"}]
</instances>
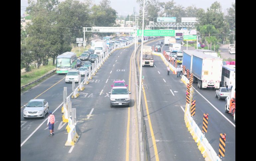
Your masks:
<instances>
[{"instance_id":1,"label":"tall slender street light pole rising from the central median in the foreground","mask_svg":"<svg viewBox=\"0 0 256 161\"><path fill-rule=\"evenodd\" d=\"M141 53L140 53L140 89L139 89L139 105L138 110L141 108L141 89L142 89L142 55L143 55L143 36L144 36L144 10L145 10L145 0L143 1L143 19L142 19L142 39L141 39Z\"/></svg>"}]
</instances>

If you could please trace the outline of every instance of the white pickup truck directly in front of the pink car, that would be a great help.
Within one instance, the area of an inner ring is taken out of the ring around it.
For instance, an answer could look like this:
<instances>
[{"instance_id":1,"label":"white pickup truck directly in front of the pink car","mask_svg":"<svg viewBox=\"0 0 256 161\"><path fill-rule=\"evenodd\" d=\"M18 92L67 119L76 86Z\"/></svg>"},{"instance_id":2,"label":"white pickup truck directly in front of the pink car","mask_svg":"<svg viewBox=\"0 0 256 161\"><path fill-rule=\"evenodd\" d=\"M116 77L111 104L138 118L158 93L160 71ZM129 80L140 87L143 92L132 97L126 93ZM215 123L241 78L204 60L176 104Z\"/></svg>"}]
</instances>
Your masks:
<instances>
[{"instance_id":1,"label":"white pickup truck directly in front of the pink car","mask_svg":"<svg viewBox=\"0 0 256 161\"><path fill-rule=\"evenodd\" d=\"M110 107L128 105L130 107L130 95L126 87L113 87L110 94Z\"/></svg>"}]
</instances>

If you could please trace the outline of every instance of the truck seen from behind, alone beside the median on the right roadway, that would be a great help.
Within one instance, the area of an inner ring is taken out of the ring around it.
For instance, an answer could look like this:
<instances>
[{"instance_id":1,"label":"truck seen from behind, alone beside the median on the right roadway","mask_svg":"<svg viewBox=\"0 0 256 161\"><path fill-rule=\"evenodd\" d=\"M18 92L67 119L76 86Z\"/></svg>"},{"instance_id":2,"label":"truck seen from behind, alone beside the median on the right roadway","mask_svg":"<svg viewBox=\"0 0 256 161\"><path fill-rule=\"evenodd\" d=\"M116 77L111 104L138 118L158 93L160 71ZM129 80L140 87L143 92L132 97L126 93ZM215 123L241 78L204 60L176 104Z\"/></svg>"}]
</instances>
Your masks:
<instances>
[{"instance_id":1,"label":"truck seen from behind, alone beside the median on the right roadway","mask_svg":"<svg viewBox=\"0 0 256 161\"><path fill-rule=\"evenodd\" d=\"M154 57L151 46L143 45L142 66L154 66Z\"/></svg>"}]
</instances>

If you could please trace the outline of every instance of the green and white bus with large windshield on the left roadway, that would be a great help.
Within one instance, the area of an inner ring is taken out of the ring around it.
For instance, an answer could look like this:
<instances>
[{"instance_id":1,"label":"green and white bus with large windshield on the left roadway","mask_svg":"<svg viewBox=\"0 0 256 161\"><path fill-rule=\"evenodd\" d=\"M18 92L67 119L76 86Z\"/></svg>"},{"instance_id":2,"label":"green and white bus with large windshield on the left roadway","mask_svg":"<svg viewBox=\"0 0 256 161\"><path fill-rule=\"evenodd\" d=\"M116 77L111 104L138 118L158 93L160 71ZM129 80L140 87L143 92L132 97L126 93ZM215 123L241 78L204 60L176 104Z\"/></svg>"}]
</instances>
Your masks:
<instances>
[{"instance_id":1,"label":"green and white bus with large windshield on the left roadway","mask_svg":"<svg viewBox=\"0 0 256 161\"><path fill-rule=\"evenodd\" d=\"M57 73L67 73L70 69L76 69L76 53L64 52L58 55L56 60Z\"/></svg>"}]
</instances>

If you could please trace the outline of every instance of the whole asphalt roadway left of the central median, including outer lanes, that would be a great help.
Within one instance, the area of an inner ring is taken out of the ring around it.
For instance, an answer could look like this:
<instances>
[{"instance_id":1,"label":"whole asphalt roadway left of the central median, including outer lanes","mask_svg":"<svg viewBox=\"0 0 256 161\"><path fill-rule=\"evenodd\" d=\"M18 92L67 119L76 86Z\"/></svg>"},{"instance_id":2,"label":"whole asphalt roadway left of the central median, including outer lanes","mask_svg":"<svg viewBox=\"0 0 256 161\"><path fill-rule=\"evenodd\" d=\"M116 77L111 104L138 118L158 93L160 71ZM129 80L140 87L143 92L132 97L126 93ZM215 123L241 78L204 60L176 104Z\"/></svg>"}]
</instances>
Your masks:
<instances>
[{"instance_id":1,"label":"whole asphalt roadway left of the central median, including outer lanes","mask_svg":"<svg viewBox=\"0 0 256 161\"><path fill-rule=\"evenodd\" d=\"M38 97L49 102L52 112L59 107L54 113L54 136L49 136L46 126L48 115L46 119L24 120L21 108L21 160L137 160L139 149L138 140L134 139L135 125L130 126L135 124L132 110L134 93L131 91L131 108L110 108L108 94L115 80L125 80L129 84L130 57L133 51L134 46L112 53L90 83L85 85L85 90L79 92L80 96L71 99L72 108L76 108L76 131L79 135L73 148L64 146L67 124L62 122L60 105L63 101L63 88L67 87L67 95L72 92L72 84L65 83L64 75L56 74L22 94L21 106L59 82ZM134 86L134 83L130 84Z\"/></svg>"}]
</instances>

